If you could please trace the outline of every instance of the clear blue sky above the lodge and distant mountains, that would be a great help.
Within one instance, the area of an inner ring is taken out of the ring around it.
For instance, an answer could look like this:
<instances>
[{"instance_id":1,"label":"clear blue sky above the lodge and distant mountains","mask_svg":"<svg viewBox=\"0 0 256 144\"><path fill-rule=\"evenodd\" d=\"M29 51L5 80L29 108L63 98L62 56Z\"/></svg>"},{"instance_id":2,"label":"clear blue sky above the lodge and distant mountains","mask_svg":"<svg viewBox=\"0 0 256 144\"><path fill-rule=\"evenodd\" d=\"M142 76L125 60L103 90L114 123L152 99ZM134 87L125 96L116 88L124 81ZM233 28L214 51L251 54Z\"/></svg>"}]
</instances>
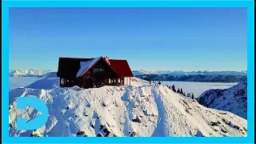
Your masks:
<instances>
[{"instance_id":1,"label":"clear blue sky above the lodge and distant mountains","mask_svg":"<svg viewBox=\"0 0 256 144\"><path fill-rule=\"evenodd\" d=\"M11 8L10 69L59 57L126 59L132 70L246 70L246 8Z\"/></svg>"}]
</instances>

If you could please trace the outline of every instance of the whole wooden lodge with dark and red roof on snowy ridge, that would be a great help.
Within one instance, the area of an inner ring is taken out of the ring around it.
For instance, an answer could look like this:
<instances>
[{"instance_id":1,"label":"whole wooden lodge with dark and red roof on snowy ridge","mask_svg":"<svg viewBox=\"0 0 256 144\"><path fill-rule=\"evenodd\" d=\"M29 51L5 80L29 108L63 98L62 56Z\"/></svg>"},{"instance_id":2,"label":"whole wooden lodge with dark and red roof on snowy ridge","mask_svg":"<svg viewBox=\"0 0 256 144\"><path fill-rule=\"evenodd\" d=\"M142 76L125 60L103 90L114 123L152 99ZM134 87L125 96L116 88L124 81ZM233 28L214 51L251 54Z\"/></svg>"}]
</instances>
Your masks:
<instances>
[{"instance_id":1,"label":"whole wooden lodge with dark and red roof on snowy ridge","mask_svg":"<svg viewBox=\"0 0 256 144\"><path fill-rule=\"evenodd\" d=\"M61 87L130 86L134 77L126 60L109 58L59 58Z\"/></svg>"}]
</instances>

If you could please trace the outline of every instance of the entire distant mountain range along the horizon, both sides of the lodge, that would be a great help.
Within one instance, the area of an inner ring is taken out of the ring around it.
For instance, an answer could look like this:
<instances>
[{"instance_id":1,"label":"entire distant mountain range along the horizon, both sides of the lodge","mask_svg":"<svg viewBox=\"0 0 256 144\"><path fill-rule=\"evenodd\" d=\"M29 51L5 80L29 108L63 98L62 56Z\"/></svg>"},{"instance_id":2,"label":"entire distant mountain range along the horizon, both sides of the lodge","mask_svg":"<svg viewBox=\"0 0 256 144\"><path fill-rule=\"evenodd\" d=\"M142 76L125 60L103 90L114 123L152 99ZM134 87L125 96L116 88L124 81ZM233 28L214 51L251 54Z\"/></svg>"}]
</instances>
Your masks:
<instances>
[{"instance_id":1,"label":"entire distant mountain range along the horizon, both sides of the lodge","mask_svg":"<svg viewBox=\"0 0 256 144\"><path fill-rule=\"evenodd\" d=\"M9 70L10 77L48 77L50 70ZM54 73L52 73L54 74ZM151 81L182 82L241 82L247 79L247 71L145 71L134 70L135 77Z\"/></svg>"}]
</instances>

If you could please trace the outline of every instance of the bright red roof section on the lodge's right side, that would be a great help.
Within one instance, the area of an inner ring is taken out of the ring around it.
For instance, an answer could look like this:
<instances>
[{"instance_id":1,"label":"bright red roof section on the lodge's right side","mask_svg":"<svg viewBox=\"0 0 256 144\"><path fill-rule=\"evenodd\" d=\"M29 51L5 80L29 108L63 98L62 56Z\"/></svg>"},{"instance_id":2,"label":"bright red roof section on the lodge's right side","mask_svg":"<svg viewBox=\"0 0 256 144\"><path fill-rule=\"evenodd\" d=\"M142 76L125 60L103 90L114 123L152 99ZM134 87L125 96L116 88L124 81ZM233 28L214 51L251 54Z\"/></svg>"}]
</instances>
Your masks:
<instances>
[{"instance_id":1,"label":"bright red roof section on the lodge's right side","mask_svg":"<svg viewBox=\"0 0 256 144\"><path fill-rule=\"evenodd\" d=\"M134 77L126 60L110 59L110 66L118 73L119 77Z\"/></svg>"}]
</instances>

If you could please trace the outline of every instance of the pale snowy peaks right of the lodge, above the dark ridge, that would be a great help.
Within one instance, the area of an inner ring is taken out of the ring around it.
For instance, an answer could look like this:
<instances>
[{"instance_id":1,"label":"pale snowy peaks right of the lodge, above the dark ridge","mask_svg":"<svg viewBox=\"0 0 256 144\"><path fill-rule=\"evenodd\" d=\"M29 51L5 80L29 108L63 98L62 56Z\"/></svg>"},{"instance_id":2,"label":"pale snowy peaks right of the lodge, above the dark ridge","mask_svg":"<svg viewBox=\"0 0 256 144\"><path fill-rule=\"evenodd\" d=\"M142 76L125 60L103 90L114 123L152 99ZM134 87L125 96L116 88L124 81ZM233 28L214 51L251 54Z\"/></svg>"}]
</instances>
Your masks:
<instances>
[{"instance_id":1,"label":"pale snowy peaks right of the lodge, above the dark ridge","mask_svg":"<svg viewBox=\"0 0 256 144\"><path fill-rule=\"evenodd\" d=\"M241 76L246 76L247 75L247 70L244 71L170 71L170 70L158 70L158 71L146 71L146 70L133 70L133 74L135 76L137 75L143 75L143 74L171 74L174 76L182 76L182 75L198 75L198 74L203 74L203 75L241 75Z\"/></svg>"}]
</instances>

